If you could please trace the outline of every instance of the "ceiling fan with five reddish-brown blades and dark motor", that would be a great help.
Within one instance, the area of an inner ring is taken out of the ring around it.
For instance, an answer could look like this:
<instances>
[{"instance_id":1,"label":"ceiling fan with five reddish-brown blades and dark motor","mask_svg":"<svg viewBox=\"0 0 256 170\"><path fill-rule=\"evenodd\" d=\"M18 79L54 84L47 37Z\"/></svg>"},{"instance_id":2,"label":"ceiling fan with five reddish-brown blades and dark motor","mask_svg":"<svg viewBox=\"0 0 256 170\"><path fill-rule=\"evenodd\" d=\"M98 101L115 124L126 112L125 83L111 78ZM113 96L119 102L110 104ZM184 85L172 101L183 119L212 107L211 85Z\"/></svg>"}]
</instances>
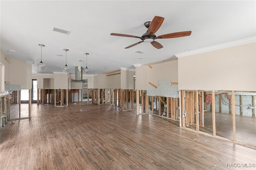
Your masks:
<instances>
[{"instance_id":1,"label":"ceiling fan with five reddish-brown blades and dark motor","mask_svg":"<svg viewBox=\"0 0 256 170\"><path fill-rule=\"evenodd\" d=\"M155 41L156 39L161 39L161 38L177 38L177 37L190 36L191 31L174 32L174 33L170 33L170 34L164 34L164 35L156 36L155 33L160 28L160 26L162 25L163 21L164 21L163 17L155 16L151 22L150 21L145 22L144 26L146 28L148 28L148 30L141 37L139 37L139 36L131 36L131 35L127 35L127 34L117 34L117 33L111 33L110 35L112 35L112 36L121 36L121 37L140 38L140 40L141 40L140 42L134 43L134 44L129 45L128 47L125 47L125 48L133 47L133 46L138 45L139 43L142 43L142 42L150 42L157 49L162 48L163 45L161 45L159 42L156 42Z\"/></svg>"}]
</instances>

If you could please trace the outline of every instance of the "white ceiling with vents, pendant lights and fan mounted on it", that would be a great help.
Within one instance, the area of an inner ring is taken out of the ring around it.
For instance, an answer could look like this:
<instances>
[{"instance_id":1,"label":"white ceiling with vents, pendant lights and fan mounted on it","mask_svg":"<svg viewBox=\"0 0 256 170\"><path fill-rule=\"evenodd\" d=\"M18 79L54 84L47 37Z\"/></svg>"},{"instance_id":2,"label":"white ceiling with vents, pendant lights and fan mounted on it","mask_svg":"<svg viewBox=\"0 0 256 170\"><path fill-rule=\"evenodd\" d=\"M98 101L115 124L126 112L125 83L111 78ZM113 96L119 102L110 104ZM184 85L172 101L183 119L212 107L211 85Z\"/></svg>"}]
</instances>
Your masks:
<instances>
[{"instance_id":1,"label":"white ceiling with vents, pendant lights and fan mounted on it","mask_svg":"<svg viewBox=\"0 0 256 170\"><path fill-rule=\"evenodd\" d=\"M256 1L0 1L1 49L10 59L34 61L32 74L62 71L67 65L86 66L90 74L118 68L134 68L174 57L185 49L196 50L220 43L256 36ZM192 31L190 36L158 39L156 49L138 38L110 36L110 33L142 36L144 22L164 17L156 36ZM53 32L52 27L71 31ZM46 65L38 71L36 65ZM15 50L16 53L8 52ZM135 51L144 51L143 54ZM59 57L57 55L63 55Z\"/></svg>"}]
</instances>

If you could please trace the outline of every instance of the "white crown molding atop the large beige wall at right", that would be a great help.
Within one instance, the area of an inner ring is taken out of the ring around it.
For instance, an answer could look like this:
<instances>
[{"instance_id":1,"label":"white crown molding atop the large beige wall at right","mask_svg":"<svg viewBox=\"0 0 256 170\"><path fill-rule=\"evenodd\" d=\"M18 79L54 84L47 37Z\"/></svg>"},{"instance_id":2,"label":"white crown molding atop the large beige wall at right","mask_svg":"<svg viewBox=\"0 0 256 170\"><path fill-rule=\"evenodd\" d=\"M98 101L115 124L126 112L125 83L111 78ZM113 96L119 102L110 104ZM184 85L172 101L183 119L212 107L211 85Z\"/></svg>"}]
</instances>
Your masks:
<instances>
[{"instance_id":1,"label":"white crown molding atop the large beige wall at right","mask_svg":"<svg viewBox=\"0 0 256 170\"><path fill-rule=\"evenodd\" d=\"M184 53L178 53L178 54L175 54L175 56L177 58L180 58L180 57L185 57L185 56L188 56L188 55L194 55L194 54L198 54L198 53L214 51L214 50L217 50L217 49L223 49L223 48L233 47L233 46L236 46L236 45L243 45L243 44L246 44L246 43L252 43L252 42L256 42L256 36L249 37L249 38L244 38L244 39L236 40L236 41L232 41L232 42L221 43L221 44L218 44L218 45L213 45L213 46L210 46L210 47L204 47L204 48L200 48L200 49L196 49L196 50L192 50L192 51L187 51L187 52L184 52Z\"/></svg>"}]
</instances>

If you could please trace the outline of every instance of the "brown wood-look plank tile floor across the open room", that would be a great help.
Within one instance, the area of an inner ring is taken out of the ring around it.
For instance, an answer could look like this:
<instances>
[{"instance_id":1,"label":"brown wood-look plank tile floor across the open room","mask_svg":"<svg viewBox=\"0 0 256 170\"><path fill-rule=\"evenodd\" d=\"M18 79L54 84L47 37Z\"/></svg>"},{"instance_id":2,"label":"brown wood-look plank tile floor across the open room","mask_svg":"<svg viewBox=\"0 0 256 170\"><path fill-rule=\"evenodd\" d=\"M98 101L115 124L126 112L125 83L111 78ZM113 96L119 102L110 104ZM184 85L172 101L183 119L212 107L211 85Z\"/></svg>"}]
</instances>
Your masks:
<instances>
[{"instance_id":1,"label":"brown wood-look plank tile floor across the open room","mask_svg":"<svg viewBox=\"0 0 256 170\"><path fill-rule=\"evenodd\" d=\"M32 104L32 119L8 123L0 135L1 170L220 170L255 158L252 148L162 117L82 102Z\"/></svg>"}]
</instances>

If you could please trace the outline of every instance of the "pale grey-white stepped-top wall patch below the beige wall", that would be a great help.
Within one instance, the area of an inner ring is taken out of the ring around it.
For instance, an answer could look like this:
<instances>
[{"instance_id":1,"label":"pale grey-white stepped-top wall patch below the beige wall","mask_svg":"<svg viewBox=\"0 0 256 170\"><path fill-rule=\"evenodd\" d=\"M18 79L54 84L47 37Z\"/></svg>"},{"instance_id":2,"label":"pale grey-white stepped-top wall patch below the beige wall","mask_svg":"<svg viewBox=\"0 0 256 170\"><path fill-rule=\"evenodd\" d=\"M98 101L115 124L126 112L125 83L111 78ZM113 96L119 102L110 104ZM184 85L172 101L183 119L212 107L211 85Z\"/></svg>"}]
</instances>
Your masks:
<instances>
[{"instance_id":1,"label":"pale grey-white stepped-top wall patch below the beige wall","mask_svg":"<svg viewBox=\"0 0 256 170\"><path fill-rule=\"evenodd\" d=\"M148 96L179 97L178 85L171 83L171 80L159 80L156 87L147 85Z\"/></svg>"}]
</instances>

